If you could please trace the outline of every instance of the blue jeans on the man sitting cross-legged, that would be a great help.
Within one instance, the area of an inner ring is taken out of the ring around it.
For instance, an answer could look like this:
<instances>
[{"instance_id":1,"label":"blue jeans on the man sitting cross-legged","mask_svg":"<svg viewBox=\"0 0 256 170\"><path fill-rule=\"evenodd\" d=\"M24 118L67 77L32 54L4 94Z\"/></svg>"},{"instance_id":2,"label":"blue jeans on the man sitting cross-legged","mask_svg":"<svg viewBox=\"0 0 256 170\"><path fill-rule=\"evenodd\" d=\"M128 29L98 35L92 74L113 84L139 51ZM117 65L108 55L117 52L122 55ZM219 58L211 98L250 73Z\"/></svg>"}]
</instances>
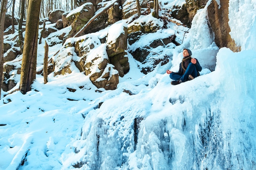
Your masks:
<instances>
[{"instance_id":1,"label":"blue jeans on the man sitting cross-legged","mask_svg":"<svg viewBox=\"0 0 256 170\"><path fill-rule=\"evenodd\" d=\"M186 82L189 80L189 75L192 75L194 78L198 77L198 72L195 68L195 64L193 64L193 63L189 63L189 66L186 68L186 71L183 75L181 75L179 73L171 73L170 78L175 81L181 79L182 82Z\"/></svg>"}]
</instances>

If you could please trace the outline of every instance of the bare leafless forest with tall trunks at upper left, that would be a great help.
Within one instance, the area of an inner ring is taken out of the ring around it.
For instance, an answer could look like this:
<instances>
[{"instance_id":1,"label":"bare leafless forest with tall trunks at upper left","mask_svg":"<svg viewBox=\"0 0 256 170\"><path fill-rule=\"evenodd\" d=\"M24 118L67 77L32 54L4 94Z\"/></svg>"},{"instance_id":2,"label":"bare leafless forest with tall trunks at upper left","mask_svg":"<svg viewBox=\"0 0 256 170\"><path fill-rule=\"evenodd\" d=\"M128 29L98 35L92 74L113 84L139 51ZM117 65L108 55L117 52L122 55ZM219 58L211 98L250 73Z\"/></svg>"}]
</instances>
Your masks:
<instances>
[{"instance_id":1,"label":"bare leafless forest with tall trunks at upper left","mask_svg":"<svg viewBox=\"0 0 256 170\"><path fill-rule=\"evenodd\" d=\"M30 85L36 79L36 58L37 58L37 38L39 19L48 17L49 11L63 9L72 10L80 3L79 0L1 0L0 9L0 89L3 82L3 55L4 55L4 20L8 13L11 13L12 33L15 33L15 21L18 21L18 45L22 58L22 71L20 90L26 93L31 89ZM83 3L83 2L81 2ZM24 20L26 21L26 34L23 35ZM24 45L25 44L25 45ZM1 94L1 91L0 91Z\"/></svg>"}]
</instances>

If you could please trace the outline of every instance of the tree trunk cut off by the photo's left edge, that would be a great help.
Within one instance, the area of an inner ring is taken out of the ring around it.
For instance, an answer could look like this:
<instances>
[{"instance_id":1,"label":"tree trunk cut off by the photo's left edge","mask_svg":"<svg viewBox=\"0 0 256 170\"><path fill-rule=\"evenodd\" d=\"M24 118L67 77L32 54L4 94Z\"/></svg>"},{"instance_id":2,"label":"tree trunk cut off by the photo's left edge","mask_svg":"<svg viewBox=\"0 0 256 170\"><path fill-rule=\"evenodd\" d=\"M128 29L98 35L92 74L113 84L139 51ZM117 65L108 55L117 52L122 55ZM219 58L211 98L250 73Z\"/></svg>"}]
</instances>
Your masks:
<instances>
[{"instance_id":1,"label":"tree trunk cut off by the photo's left edge","mask_svg":"<svg viewBox=\"0 0 256 170\"><path fill-rule=\"evenodd\" d=\"M4 18L6 13L7 0L2 0L0 13L0 98L3 83L4 70Z\"/></svg>"}]
</instances>

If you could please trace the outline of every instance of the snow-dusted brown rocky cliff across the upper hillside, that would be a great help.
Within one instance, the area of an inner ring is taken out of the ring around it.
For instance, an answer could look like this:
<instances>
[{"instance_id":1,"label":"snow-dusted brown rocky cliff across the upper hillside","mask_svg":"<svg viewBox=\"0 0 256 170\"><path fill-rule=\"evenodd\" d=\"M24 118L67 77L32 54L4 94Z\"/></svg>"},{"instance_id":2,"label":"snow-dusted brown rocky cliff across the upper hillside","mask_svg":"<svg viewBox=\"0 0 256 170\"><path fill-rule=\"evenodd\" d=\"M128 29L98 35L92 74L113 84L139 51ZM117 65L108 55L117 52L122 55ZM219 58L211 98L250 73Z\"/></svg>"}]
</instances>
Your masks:
<instances>
[{"instance_id":1,"label":"snow-dusted brown rocky cliff across the upper hillside","mask_svg":"<svg viewBox=\"0 0 256 170\"><path fill-rule=\"evenodd\" d=\"M74 62L79 71L84 71L85 75L89 75L94 85L98 88L115 89L119 83L118 77L123 77L130 69L127 50L140 63L138 65L141 68L141 72L147 74L157 64L166 64L169 60L168 58L171 57L166 54L159 55L159 53L152 53L152 49L157 49L158 46L166 46L169 43L172 43L173 46L179 46L182 44L182 38L175 40L176 35L173 33L173 35L154 39L150 44L146 44L145 46L128 49L127 44L132 46L143 35L166 29L168 23L183 25L189 28L196 12L204 8L207 3L209 4L207 5L207 20L215 43L220 48L228 47L232 51L239 51L239 46L236 45L229 35L228 2L228 0L220 0L219 2L215 0L187 0L186 3L180 6L173 5L171 9L169 8L171 2L170 4L165 2L165 4L160 5L160 19L150 20L149 22L136 20L137 7L135 1L86 1L81 2L81 6L73 11L52 11L49 13L49 20L40 22L40 36L48 39L49 46L56 44L64 44L64 46L61 49L62 51L56 53L52 59L49 59L48 73L54 72L54 75L71 73L70 64ZM153 4L147 1L140 1L140 3L142 15L151 15ZM4 41L4 91L9 91L16 86L17 82L11 78L13 76L10 74L14 72L17 74L20 73L20 65L17 62L20 62L21 59L16 59L21 56L17 47L18 36L13 37L10 34L10 17L10 15L6 15L5 22L7 29L5 30ZM119 36L116 36L116 40L110 42L108 39L112 35L106 34L99 38L97 43L87 41L88 37L93 36L93 33L104 30L108 26L123 19L127 20L128 25L123 26L123 32ZM43 23L49 26L43 28ZM53 26L50 26L52 24ZM62 34L53 35L54 32L67 29L68 31L63 31ZM87 36L76 42L67 43L68 41L66 41L68 38L83 35ZM85 44L85 42L88 42L88 44ZM81 47L79 45L81 43L85 46ZM107 57L97 56L95 53L94 60L88 62L88 54L97 49L97 46L100 46L100 44L105 46ZM63 66L63 63L60 64L58 62L62 62L62 60L59 60L59 57L63 51L67 50L65 48L74 48L74 53L65 53L66 60L69 61L66 61L66 65ZM79 59L76 58L77 56ZM94 61L98 62L98 59L102 57L105 58L105 60L101 59L102 63L94 64ZM152 64L150 66L144 66L144 63L148 62ZM93 65L97 65L99 71L93 73ZM113 74L114 72L112 70L116 70L117 72L114 71L115 74ZM38 74L41 73L42 69L38 69ZM103 82L99 81L99 79Z\"/></svg>"}]
</instances>

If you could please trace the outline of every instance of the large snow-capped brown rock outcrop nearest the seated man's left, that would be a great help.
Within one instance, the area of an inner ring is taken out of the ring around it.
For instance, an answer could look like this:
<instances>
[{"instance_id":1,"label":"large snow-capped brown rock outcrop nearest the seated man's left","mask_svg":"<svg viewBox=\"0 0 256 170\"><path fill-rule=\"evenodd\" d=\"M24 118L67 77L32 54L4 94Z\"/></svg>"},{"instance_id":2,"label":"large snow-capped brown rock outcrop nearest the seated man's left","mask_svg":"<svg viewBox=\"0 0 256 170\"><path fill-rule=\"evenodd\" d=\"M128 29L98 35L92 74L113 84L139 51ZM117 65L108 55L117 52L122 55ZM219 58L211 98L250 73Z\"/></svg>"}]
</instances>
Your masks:
<instances>
[{"instance_id":1,"label":"large snow-capped brown rock outcrop nearest the seated man's left","mask_svg":"<svg viewBox=\"0 0 256 170\"><path fill-rule=\"evenodd\" d=\"M115 29L108 29L105 37L92 33L75 42L67 40L58 56L53 57L54 75L71 73L76 66L97 88L117 88L119 75L123 77L130 69L126 52L128 31L123 23L112 26Z\"/></svg>"}]
</instances>

